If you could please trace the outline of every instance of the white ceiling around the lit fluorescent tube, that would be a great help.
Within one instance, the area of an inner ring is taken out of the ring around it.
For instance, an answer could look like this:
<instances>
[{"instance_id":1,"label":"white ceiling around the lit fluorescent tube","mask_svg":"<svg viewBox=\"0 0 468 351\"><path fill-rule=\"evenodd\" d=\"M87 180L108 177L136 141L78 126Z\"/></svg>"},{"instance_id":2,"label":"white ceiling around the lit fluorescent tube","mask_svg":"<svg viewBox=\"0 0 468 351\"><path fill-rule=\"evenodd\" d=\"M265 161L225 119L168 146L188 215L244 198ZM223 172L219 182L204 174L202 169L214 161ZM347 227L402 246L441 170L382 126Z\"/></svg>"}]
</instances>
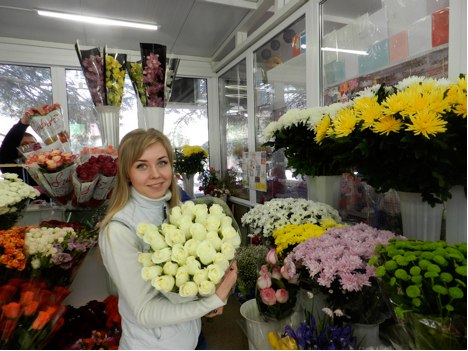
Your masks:
<instances>
[{"instance_id":1,"label":"white ceiling around the lit fluorescent tube","mask_svg":"<svg viewBox=\"0 0 468 351\"><path fill-rule=\"evenodd\" d=\"M140 43L157 43L166 45L168 54L222 57L223 50L234 47L235 33L253 31L272 16L273 5L274 0L0 0L0 37L66 44L79 40L82 47L136 51ZM160 29L83 24L42 17L36 9L151 23Z\"/></svg>"}]
</instances>

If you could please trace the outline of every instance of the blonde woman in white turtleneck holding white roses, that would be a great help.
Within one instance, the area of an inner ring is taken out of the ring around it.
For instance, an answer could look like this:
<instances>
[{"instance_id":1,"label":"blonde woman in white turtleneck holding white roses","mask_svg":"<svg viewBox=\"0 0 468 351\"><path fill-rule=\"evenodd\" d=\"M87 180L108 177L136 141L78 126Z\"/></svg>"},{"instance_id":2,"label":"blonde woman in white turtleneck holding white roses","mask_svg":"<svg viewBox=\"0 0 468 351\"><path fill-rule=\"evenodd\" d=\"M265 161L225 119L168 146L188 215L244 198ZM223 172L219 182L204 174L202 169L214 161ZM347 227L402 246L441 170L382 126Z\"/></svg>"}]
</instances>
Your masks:
<instances>
[{"instance_id":1,"label":"blonde woman in white turtleneck holding white roses","mask_svg":"<svg viewBox=\"0 0 468 351\"><path fill-rule=\"evenodd\" d=\"M172 146L155 129L136 129L122 139L117 180L101 223L99 248L119 295L122 349L194 349L201 317L222 313L237 279L234 262L214 295L173 304L141 278L138 253L145 243L136 234L140 222L160 225L168 207L178 205Z\"/></svg>"}]
</instances>

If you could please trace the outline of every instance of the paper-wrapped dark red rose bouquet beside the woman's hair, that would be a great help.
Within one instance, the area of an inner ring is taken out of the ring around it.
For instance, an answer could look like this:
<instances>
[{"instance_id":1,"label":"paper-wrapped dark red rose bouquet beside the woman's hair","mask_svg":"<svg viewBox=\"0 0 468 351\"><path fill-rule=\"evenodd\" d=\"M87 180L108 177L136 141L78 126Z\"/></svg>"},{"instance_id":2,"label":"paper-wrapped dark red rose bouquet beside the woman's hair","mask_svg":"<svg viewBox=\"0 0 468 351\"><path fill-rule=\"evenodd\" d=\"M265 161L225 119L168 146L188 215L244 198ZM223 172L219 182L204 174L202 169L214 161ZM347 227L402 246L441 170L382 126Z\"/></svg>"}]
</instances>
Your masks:
<instances>
[{"instance_id":1,"label":"paper-wrapped dark red rose bouquet beside the woman's hair","mask_svg":"<svg viewBox=\"0 0 468 351\"><path fill-rule=\"evenodd\" d=\"M76 167L72 175L73 204L80 207L98 207L108 198L117 172L116 159L110 155L90 156Z\"/></svg>"}]
</instances>

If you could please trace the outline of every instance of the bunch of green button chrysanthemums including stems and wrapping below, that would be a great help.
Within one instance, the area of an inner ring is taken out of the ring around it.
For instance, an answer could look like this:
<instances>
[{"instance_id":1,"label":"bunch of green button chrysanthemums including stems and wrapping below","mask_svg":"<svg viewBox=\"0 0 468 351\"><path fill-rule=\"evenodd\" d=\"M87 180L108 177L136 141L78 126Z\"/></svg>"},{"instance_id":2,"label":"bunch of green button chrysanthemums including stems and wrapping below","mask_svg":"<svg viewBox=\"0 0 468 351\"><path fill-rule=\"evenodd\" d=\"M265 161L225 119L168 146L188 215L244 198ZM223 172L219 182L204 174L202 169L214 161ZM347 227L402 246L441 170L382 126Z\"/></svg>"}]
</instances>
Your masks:
<instances>
[{"instance_id":1,"label":"bunch of green button chrysanthemums including stems and wrapping below","mask_svg":"<svg viewBox=\"0 0 468 351\"><path fill-rule=\"evenodd\" d=\"M416 349L466 347L466 243L392 240L369 263L400 321L396 339L406 335Z\"/></svg>"}]
</instances>

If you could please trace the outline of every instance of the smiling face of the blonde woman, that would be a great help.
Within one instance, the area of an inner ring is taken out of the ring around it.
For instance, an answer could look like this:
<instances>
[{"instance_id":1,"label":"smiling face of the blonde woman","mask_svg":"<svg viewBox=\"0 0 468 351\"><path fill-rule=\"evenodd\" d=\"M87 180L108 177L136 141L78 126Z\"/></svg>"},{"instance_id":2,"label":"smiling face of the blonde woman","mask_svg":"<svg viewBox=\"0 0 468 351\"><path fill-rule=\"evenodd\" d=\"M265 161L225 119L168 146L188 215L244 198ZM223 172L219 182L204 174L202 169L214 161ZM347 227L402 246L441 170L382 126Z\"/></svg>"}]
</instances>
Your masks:
<instances>
[{"instance_id":1,"label":"smiling face of the blonde woman","mask_svg":"<svg viewBox=\"0 0 468 351\"><path fill-rule=\"evenodd\" d=\"M141 195L151 199L163 197L172 183L172 165L164 146L156 142L147 147L132 164L129 177Z\"/></svg>"}]
</instances>

